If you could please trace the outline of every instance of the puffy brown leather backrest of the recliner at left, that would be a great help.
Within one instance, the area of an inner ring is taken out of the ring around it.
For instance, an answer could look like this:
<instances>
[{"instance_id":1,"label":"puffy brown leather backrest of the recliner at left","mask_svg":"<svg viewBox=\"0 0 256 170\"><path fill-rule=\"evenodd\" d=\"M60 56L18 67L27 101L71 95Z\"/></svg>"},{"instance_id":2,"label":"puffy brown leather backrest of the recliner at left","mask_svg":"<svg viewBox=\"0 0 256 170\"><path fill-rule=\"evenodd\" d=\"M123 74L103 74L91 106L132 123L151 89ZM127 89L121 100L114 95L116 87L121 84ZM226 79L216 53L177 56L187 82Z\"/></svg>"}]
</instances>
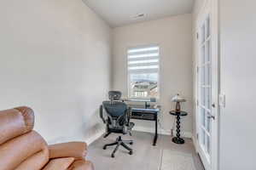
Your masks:
<instances>
[{"instance_id":1,"label":"puffy brown leather backrest of the recliner at left","mask_svg":"<svg viewBox=\"0 0 256 170\"><path fill-rule=\"evenodd\" d=\"M34 113L28 107L0 111L1 170L44 167L49 160L48 145L33 127Z\"/></svg>"}]
</instances>

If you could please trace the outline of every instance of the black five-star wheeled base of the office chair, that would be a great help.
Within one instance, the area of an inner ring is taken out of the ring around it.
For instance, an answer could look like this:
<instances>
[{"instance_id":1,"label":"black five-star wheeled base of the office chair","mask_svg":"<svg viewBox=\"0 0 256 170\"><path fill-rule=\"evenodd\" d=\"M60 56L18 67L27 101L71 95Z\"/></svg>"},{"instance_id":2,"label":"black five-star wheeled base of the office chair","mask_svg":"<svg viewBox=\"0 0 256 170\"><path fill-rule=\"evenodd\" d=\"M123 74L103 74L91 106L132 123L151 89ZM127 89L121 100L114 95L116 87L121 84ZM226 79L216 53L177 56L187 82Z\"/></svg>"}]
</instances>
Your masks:
<instances>
[{"instance_id":1,"label":"black five-star wheeled base of the office chair","mask_svg":"<svg viewBox=\"0 0 256 170\"><path fill-rule=\"evenodd\" d=\"M123 146L126 150L129 150L129 154L132 155L133 154L133 151L132 149L127 145L127 144L133 144L133 141L132 140L123 140L121 138L121 136L119 136L115 142L111 143L111 144L105 144L103 146L103 150L106 150L108 146L113 146L113 145L116 145L116 147L114 148L112 154L111 154L111 157L114 157L114 154L115 152L119 149L119 146Z\"/></svg>"}]
</instances>

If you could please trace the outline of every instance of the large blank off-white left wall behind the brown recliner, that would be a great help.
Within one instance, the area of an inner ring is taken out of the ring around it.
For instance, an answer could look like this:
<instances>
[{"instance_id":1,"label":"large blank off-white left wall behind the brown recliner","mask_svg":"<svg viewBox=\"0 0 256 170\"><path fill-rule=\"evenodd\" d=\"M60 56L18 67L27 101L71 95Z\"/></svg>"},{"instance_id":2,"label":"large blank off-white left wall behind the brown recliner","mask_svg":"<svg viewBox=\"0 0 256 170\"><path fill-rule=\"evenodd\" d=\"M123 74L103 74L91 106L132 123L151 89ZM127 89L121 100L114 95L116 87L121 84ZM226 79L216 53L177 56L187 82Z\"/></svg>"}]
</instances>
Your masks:
<instances>
[{"instance_id":1,"label":"large blank off-white left wall behind the brown recliner","mask_svg":"<svg viewBox=\"0 0 256 170\"><path fill-rule=\"evenodd\" d=\"M0 109L32 107L49 141L88 139L110 84L111 29L80 0L3 0Z\"/></svg>"}]
</instances>

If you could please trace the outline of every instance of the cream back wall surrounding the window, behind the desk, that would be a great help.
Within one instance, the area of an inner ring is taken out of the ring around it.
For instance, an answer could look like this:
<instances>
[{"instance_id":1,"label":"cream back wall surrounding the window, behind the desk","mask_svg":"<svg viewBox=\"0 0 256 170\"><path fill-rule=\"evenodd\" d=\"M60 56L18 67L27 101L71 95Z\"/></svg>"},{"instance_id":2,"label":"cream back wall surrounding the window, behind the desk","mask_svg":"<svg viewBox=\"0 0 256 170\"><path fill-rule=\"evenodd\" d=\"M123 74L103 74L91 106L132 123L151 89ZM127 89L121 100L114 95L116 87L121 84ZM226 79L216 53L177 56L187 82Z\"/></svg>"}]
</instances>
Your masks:
<instances>
[{"instance_id":1,"label":"cream back wall surrounding the window, behind the desk","mask_svg":"<svg viewBox=\"0 0 256 170\"><path fill-rule=\"evenodd\" d=\"M183 14L113 30L113 86L127 96L126 50L137 45L160 45L160 105L162 127L170 133L174 117L172 96L182 94L188 101L182 105L189 116L183 119L183 131L192 132L192 15ZM154 122L136 122L143 129L154 128Z\"/></svg>"}]
</instances>

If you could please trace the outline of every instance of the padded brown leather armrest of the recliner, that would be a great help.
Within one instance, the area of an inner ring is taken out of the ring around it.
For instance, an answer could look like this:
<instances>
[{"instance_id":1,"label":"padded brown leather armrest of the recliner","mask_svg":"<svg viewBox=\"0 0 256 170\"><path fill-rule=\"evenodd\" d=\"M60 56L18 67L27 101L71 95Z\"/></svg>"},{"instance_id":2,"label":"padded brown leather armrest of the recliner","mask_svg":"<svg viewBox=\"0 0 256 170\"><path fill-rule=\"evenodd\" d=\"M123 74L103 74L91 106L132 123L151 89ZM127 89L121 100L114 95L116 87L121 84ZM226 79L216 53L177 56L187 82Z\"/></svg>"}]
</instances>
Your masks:
<instances>
[{"instance_id":1,"label":"padded brown leather armrest of the recliner","mask_svg":"<svg viewBox=\"0 0 256 170\"><path fill-rule=\"evenodd\" d=\"M74 157L84 159L87 154L87 144L84 142L69 142L49 145L49 158Z\"/></svg>"}]
</instances>

